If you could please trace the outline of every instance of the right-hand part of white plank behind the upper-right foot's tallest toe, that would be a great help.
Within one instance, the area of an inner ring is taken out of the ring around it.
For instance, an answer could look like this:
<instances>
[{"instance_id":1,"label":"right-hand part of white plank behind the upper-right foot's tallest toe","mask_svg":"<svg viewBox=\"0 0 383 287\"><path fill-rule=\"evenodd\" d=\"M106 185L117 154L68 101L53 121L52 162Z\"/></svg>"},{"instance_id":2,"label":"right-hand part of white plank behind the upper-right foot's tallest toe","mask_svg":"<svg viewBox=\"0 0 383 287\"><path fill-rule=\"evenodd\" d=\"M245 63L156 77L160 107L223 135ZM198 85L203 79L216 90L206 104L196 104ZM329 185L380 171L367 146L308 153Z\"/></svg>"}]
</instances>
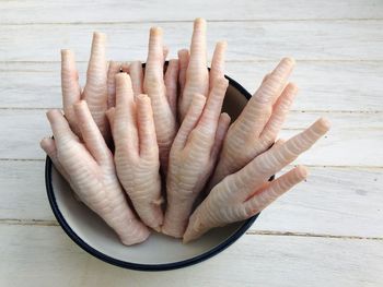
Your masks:
<instances>
[{"instance_id":1,"label":"right-hand part of white plank behind the upper-right foot's tallest toe","mask_svg":"<svg viewBox=\"0 0 383 287\"><path fill-rule=\"evenodd\" d=\"M229 62L227 73L254 93L272 62ZM383 65L374 61L298 61L291 81L300 87L295 110L375 111L383 109Z\"/></svg>"}]
</instances>

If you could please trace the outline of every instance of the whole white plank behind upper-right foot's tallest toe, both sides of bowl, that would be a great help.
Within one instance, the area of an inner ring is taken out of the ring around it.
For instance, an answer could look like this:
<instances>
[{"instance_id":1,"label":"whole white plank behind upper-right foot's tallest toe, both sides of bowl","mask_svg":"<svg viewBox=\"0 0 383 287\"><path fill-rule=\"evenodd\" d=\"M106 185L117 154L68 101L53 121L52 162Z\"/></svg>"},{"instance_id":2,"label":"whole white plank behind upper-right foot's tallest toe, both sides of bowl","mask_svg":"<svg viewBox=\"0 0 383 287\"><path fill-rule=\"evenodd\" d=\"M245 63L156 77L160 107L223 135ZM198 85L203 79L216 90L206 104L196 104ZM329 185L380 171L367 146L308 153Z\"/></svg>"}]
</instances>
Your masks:
<instances>
[{"instance_id":1,"label":"whole white plank behind upper-right foot's tallest toe, both sides of bowl","mask_svg":"<svg viewBox=\"0 0 383 287\"><path fill-rule=\"evenodd\" d=\"M228 62L227 73L253 93L276 61ZM79 62L84 83L86 63ZM295 110L383 110L380 62L298 62L292 81L300 85ZM0 63L0 108L61 107L59 62Z\"/></svg>"}]
</instances>

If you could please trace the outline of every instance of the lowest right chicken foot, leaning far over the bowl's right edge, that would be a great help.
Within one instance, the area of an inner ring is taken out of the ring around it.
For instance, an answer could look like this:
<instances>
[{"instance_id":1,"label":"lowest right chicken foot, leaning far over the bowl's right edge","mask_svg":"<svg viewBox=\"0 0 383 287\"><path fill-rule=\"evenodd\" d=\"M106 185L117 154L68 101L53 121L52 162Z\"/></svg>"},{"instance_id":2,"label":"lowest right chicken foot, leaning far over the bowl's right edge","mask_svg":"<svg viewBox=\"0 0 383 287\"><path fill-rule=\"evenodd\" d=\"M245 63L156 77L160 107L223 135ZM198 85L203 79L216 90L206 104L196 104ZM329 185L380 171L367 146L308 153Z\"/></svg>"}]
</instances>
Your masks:
<instances>
[{"instance_id":1,"label":"lowest right chicken foot, leaning far over the bowl's right edge","mask_svg":"<svg viewBox=\"0 0 383 287\"><path fill-rule=\"evenodd\" d=\"M240 222L259 213L278 196L307 176L306 168L295 167L274 181L268 179L307 151L329 129L318 119L305 131L249 162L236 174L225 177L210 192L189 218L184 242L197 239L213 227Z\"/></svg>"}]
</instances>

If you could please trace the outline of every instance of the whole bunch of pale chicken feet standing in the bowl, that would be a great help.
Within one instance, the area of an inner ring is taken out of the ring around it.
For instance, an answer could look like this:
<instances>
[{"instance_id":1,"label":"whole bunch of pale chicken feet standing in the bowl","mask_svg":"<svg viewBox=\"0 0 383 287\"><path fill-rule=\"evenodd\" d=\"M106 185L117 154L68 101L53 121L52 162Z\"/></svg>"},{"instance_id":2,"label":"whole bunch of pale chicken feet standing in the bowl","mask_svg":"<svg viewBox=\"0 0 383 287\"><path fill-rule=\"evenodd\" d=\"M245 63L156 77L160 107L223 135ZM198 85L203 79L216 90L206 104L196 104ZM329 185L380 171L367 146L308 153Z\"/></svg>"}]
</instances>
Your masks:
<instances>
[{"instance_id":1,"label":"whole bunch of pale chicken feet standing in the bowl","mask_svg":"<svg viewBox=\"0 0 383 287\"><path fill-rule=\"evenodd\" d=\"M254 216L306 178L297 166L268 181L329 129L321 118L288 141L277 139L298 92L288 83L293 59L265 76L231 122L221 113L227 44L217 44L209 71L205 20L194 22L190 49L167 64L162 34L150 29L142 68L107 64L106 36L94 33L83 89L73 52L62 50L65 115L47 112L54 137L40 142L77 198L126 246L152 230L189 242Z\"/></svg>"}]
</instances>

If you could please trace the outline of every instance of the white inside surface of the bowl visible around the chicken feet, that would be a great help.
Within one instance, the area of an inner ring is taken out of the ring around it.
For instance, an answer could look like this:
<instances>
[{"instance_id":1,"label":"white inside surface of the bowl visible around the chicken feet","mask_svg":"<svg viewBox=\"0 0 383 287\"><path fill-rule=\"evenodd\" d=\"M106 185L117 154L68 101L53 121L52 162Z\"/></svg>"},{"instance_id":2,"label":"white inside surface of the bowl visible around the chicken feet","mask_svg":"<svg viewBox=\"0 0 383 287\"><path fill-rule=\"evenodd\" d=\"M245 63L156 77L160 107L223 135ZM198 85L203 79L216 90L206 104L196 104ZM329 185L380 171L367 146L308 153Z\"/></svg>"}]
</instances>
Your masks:
<instances>
[{"instance_id":1,"label":"white inside surface of the bowl visible around the chicken feet","mask_svg":"<svg viewBox=\"0 0 383 287\"><path fill-rule=\"evenodd\" d=\"M223 110L234 120L246 101L245 91L231 81ZM112 259L129 264L164 265L201 258L214 249L222 250L235 241L255 219L216 228L188 244L153 232L146 242L126 247L96 214L73 198L70 186L54 167L48 174L51 177L48 179L51 187L48 189L48 194L51 193L50 203L60 225L80 247L98 258L106 256L109 261Z\"/></svg>"}]
</instances>

